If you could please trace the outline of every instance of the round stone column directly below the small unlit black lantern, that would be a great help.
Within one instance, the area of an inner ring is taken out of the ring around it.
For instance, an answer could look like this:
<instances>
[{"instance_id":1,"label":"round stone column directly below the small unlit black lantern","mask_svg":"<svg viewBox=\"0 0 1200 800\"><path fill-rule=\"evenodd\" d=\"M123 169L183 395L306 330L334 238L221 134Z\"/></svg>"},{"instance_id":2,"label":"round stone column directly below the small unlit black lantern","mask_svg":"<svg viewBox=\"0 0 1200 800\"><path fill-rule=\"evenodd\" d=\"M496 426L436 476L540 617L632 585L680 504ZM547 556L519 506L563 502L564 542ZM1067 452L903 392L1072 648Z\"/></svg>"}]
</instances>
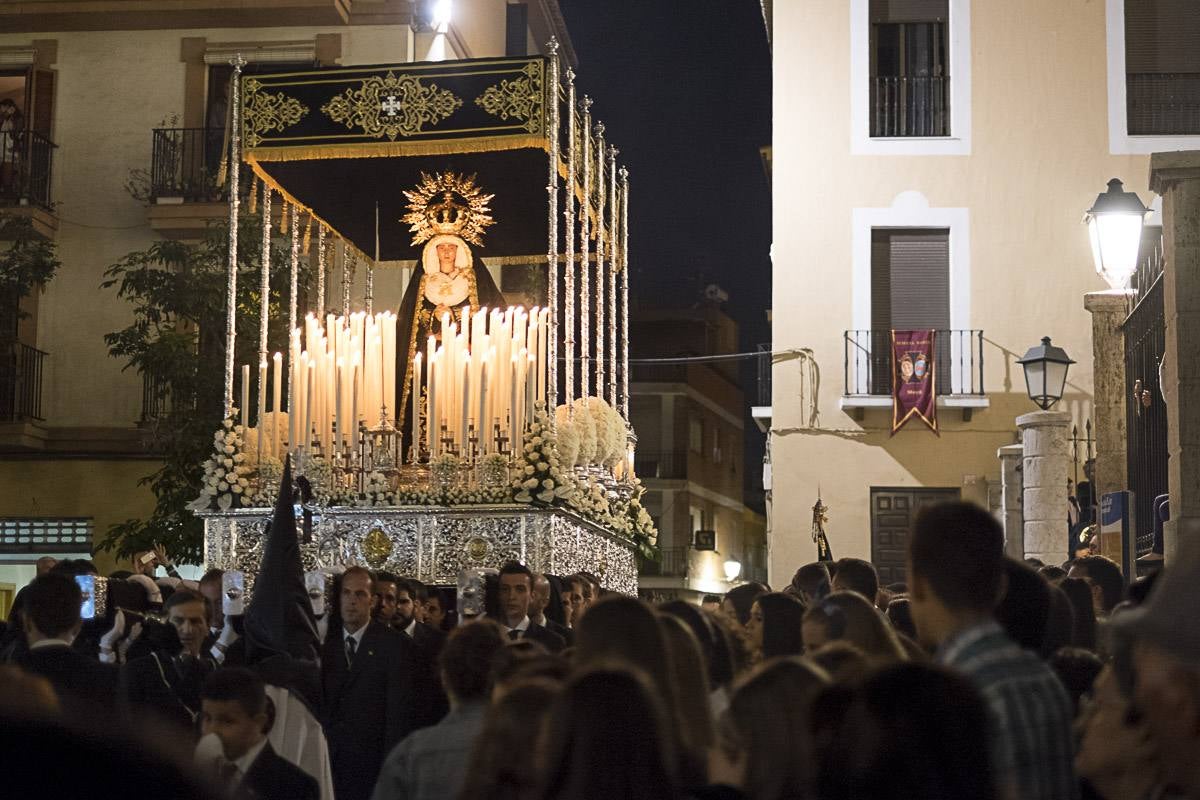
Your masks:
<instances>
[{"instance_id":1,"label":"round stone column directly below the small unlit black lantern","mask_svg":"<svg viewBox=\"0 0 1200 800\"><path fill-rule=\"evenodd\" d=\"M1021 481L1025 486L1025 555L1046 564L1067 560L1066 411L1033 411L1016 417L1021 431Z\"/></svg>"}]
</instances>

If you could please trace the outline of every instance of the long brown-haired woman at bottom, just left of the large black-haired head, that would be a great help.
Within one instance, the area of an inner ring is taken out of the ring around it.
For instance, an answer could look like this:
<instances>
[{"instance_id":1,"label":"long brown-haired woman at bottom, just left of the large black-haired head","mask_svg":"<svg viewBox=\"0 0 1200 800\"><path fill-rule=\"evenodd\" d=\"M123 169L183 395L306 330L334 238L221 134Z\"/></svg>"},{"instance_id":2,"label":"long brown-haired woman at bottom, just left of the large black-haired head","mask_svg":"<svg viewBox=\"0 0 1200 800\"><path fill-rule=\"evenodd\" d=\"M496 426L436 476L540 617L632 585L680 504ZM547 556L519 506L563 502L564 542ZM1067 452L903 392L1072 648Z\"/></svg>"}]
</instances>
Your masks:
<instances>
[{"instance_id":1,"label":"long brown-haired woman at bottom, just left of the large black-haired head","mask_svg":"<svg viewBox=\"0 0 1200 800\"><path fill-rule=\"evenodd\" d=\"M709 760L714 784L754 800L806 800L816 776L810 706L829 682L798 658L762 664L733 690Z\"/></svg>"}]
</instances>

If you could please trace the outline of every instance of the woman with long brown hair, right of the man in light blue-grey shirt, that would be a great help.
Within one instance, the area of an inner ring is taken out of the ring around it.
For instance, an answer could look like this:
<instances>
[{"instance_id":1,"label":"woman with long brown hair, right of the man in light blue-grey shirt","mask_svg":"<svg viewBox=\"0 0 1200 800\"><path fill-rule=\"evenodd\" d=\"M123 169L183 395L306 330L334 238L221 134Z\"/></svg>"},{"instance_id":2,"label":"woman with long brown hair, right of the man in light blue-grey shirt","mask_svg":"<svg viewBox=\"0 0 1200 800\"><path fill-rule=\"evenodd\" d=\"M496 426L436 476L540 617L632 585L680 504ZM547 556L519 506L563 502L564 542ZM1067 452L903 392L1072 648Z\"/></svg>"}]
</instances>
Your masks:
<instances>
[{"instance_id":1,"label":"woman with long brown hair, right of the man in light blue-grey shirt","mask_svg":"<svg viewBox=\"0 0 1200 800\"><path fill-rule=\"evenodd\" d=\"M536 732L558 696L559 685L539 679L517 684L487 709L475 739L460 800L526 800L536 788L530 758L514 758L514 742Z\"/></svg>"}]
</instances>

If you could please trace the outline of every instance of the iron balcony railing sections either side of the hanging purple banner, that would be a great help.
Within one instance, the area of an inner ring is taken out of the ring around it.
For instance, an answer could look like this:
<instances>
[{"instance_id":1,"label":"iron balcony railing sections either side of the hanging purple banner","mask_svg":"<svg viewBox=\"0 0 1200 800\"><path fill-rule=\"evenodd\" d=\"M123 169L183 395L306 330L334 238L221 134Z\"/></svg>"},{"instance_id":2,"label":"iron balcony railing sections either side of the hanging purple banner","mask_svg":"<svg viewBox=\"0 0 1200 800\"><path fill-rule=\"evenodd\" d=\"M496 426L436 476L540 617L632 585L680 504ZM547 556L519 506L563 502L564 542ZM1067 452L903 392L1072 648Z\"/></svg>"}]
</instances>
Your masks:
<instances>
[{"instance_id":1,"label":"iron balcony railing sections either side of the hanging purple banner","mask_svg":"<svg viewBox=\"0 0 1200 800\"><path fill-rule=\"evenodd\" d=\"M937 404L971 411L988 408L983 383L983 331L938 330L934 336L934 368ZM862 411L866 408L890 408L892 331L846 331L842 339L841 408Z\"/></svg>"}]
</instances>

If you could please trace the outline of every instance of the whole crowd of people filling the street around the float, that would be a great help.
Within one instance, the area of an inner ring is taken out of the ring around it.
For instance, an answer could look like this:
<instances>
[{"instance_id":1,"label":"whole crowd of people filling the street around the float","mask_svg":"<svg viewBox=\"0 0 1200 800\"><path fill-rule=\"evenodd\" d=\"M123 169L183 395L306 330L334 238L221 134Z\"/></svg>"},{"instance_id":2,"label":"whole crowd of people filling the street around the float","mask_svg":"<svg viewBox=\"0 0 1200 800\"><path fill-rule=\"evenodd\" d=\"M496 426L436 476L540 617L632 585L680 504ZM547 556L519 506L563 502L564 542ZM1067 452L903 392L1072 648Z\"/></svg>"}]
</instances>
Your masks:
<instances>
[{"instance_id":1,"label":"whole crowd of people filling the street around the float","mask_svg":"<svg viewBox=\"0 0 1200 800\"><path fill-rule=\"evenodd\" d=\"M95 620L90 563L38 565L2 638L0 738L28 754L10 777L44 796L1200 798L1200 551L1127 585L1099 555L1007 558L954 503L917 517L904 584L842 559L652 606L509 563L472 614L349 566L295 618L318 628L307 684L256 657L218 572L156 581L164 560L136 559Z\"/></svg>"}]
</instances>

